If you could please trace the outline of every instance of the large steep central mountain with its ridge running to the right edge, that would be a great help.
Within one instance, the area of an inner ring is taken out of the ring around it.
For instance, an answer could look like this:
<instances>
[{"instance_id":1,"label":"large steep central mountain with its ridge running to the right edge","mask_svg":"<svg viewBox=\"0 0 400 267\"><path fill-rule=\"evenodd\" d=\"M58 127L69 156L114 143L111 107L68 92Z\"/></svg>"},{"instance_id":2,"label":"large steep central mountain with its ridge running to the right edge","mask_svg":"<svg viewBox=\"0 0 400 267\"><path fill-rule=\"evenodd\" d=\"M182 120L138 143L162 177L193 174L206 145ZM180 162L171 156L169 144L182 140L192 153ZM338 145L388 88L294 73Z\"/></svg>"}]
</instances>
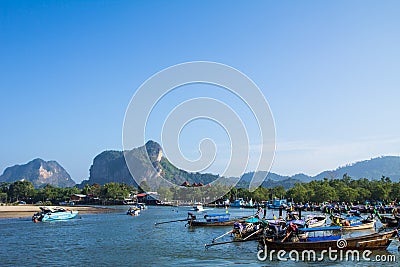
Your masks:
<instances>
[{"instance_id":1,"label":"large steep central mountain with its ridge running to the right edge","mask_svg":"<svg viewBox=\"0 0 400 267\"><path fill-rule=\"evenodd\" d=\"M144 164L146 153L151 161L147 166ZM136 180L133 179L126 165L124 155L127 158L135 158L135 160L140 163L139 165L142 169L142 177L136 177ZM137 186L136 181L146 181L146 176L154 175L154 170L157 175L161 175L166 180L178 185L185 181L190 184L208 184L219 178L218 175L214 174L190 173L178 169L163 156L162 148L158 143L148 141L143 147L134 148L129 151L104 151L100 153L94 158L93 164L90 167L89 180L86 180L83 183L98 183L102 185L108 182L120 182ZM266 171L260 173L266 177L262 183L262 186L264 187L282 185L285 188L290 188L297 182L309 182L312 180L321 180L323 178L341 178L346 173L354 179L380 179L382 175L385 175L390 177L393 181L399 181L400 157L384 156L373 158L342 166L335 170L323 171L316 176L302 173L292 176L284 176L272 172L268 173ZM247 188L253 174L254 172L245 173L240 178L236 187ZM226 178L226 180L229 179L230 178Z\"/></svg>"}]
</instances>

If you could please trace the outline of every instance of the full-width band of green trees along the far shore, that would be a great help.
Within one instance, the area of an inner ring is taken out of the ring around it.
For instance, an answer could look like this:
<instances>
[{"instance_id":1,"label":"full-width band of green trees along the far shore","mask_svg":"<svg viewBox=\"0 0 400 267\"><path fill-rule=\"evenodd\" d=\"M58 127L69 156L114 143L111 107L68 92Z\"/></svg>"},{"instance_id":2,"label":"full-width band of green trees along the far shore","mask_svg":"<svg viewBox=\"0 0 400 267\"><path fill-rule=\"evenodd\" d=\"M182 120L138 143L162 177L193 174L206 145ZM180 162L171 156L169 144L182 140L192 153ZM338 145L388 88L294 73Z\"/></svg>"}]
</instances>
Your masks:
<instances>
[{"instance_id":1,"label":"full-width band of green trees along the far shore","mask_svg":"<svg viewBox=\"0 0 400 267\"><path fill-rule=\"evenodd\" d=\"M27 203L36 202L58 202L70 200L73 194L90 195L103 201L123 200L139 192L145 192L147 186L141 184L139 188L120 183L107 183L105 185L86 184L84 188L57 188L46 185L43 188L34 188L29 181L17 181L14 183L0 183L0 202ZM245 200L252 199L255 202L271 200L273 198L287 198L296 203L322 203L324 201L356 203L366 200L382 202L399 202L400 182L393 182L389 177L382 176L379 180L352 179L347 174L341 179L323 179L308 183L296 183L292 188L285 189L283 186L273 188L259 187L254 191L244 188L223 188L223 185L205 186L205 192L210 198L222 201L229 199L234 201L237 198ZM158 190L163 196L162 201L171 201L184 197L189 201L205 201L203 199L204 189L182 187L160 187ZM227 192L221 196L221 192Z\"/></svg>"}]
</instances>

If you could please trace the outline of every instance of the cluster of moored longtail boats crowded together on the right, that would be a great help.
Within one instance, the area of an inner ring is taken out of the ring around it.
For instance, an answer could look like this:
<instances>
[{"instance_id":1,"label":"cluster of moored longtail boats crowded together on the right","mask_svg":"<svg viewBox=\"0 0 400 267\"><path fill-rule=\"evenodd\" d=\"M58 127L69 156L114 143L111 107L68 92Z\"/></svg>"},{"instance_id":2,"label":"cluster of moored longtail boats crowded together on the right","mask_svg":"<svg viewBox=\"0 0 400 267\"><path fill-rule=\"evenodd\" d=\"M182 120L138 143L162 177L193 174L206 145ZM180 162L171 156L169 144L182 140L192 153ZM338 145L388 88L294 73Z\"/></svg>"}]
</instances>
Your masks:
<instances>
[{"instance_id":1,"label":"cluster of moored longtail boats crowded together on the right","mask_svg":"<svg viewBox=\"0 0 400 267\"><path fill-rule=\"evenodd\" d=\"M320 212L310 214L308 209L300 205L259 206L253 216L231 218L226 213L201 215L192 212L188 217L180 220L159 222L156 225L185 221L189 227L231 227L227 232L212 239L205 247L213 247L229 243L256 241L259 246L268 246L277 250L306 250L321 251L332 248L339 250L379 250L386 249L393 238L398 237L399 222L397 208L392 209L394 214L380 214L374 207L364 206L363 209L348 206L342 209L338 204L326 203L319 206ZM278 202L276 202L278 204ZM272 209L272 218L267 217L267 210ZM278 216L274 209L279 210ZM311 209L311 208L310 208ZM285 216L284 212L286 212ZM307 212L302 216L302 212ZM376 222L380 220L383 227L376 229ZM388 224L387 222L391 222ZM391 228L392 227L392 228ZM358 230L369 229L367 233ZM357 234L350 234L358 231ZM339 241L345 240L345 246L338 247Z\"/></svg>"}]
</instances>

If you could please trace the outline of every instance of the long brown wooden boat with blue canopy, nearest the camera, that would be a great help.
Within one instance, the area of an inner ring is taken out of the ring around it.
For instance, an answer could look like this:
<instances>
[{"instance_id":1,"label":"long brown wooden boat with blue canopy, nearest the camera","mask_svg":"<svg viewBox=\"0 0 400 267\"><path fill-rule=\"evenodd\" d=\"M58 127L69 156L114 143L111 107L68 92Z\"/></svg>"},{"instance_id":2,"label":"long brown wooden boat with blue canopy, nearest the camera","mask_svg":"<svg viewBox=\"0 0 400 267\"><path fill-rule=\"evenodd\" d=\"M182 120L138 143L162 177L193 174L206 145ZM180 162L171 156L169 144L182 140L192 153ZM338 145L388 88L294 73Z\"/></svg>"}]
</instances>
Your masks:
<instances>
[{"instance_id":1,"label":"long brown wooden boat with blue canopy, nearest the camera","mask_svg":"<svg viewBox=\"0 0 400 267\"><path fill-rule=\"evenodd\" d=\"M336 226L337 227L337 226ZM326 231L326 228L322 229ZM321 228L306 228L308 231L319 230ZM273 240L264 237L259 242L262 246L266 246L268 250L285 250L285 251L303 251L303 250L377 250L386 249L392 242L392 238L397 235L397 230L388 232L368 234L358 237L350 237L341 239L340 235L330 235L325 237L307 237L297 242L282 242L281 240Z\"/></svg>"}]
</instances>

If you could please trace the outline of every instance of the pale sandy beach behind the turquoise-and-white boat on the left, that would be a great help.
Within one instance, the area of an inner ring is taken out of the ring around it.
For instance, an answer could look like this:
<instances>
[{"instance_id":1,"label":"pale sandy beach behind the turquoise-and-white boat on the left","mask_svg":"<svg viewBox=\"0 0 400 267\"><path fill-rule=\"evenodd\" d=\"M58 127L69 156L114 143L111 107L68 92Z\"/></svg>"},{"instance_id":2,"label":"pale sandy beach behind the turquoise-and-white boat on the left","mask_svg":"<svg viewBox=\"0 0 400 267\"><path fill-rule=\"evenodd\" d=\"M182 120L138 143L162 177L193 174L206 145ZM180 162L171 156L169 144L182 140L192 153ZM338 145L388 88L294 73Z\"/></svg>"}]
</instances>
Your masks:
<instances>
[{"instance_id":1,"label":"pale sandy beach behind the turquoise-and-white boat on the left","mask_svg":"<svg viewBox=\"0 0 400 267\"><path fill-rule=\"evenodd\" d=\"M40 206L35 205L18 205L18 206L0 206L0 219L4 218L24 218L31 217L35 212L40 211ZM65 209L77 210L80 214L105 213L111 212L113 209L92 207L92 206L46 206L46 207L63 207Z\"/></svg>"}]
</instances>

